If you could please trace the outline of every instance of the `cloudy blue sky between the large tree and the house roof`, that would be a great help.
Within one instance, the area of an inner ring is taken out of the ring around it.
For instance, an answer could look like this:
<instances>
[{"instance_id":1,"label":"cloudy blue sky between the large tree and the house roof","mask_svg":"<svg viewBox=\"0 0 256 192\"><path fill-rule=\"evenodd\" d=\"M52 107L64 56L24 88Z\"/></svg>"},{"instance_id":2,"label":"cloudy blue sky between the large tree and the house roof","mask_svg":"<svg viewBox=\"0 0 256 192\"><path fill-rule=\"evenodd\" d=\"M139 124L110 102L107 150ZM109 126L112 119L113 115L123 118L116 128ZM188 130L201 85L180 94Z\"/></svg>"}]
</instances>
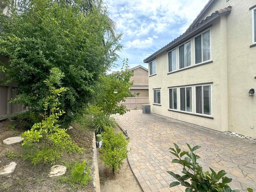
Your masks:
<instances>
[{"instance_id":1,"label":"cloudy blue sky between the large tree and the house roof","mask_svg":"<svg viewBox=\"0 0 256 192\"><path fill-rule=\"evenodd\" d=\"M122 32L120 58L128 58L130 68L180 36L208 0L105 0L110 18ZM120 70L122 59L118 60Z\"/></svg>"}]
</instances>

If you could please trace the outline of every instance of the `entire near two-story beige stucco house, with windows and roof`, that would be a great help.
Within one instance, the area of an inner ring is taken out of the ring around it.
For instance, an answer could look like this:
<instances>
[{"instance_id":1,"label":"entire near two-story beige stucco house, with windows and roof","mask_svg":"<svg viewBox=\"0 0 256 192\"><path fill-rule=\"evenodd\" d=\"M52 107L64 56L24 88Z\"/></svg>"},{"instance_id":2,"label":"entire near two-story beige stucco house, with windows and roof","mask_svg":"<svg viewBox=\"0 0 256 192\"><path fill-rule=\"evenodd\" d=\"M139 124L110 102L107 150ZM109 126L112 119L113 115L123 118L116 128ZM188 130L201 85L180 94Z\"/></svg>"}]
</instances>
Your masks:
<instances>
[{"instance_id":1,"label":"entire near two-story beige stucco house, with windows and roof","mask_svg":"<svg viewBox=\"0 0 256 192\"><path fill-rule=\"evenodd\" d=\"M255 0L210 0L144 62L151 112L256 138Z\"/></svg>"}]
</instances>

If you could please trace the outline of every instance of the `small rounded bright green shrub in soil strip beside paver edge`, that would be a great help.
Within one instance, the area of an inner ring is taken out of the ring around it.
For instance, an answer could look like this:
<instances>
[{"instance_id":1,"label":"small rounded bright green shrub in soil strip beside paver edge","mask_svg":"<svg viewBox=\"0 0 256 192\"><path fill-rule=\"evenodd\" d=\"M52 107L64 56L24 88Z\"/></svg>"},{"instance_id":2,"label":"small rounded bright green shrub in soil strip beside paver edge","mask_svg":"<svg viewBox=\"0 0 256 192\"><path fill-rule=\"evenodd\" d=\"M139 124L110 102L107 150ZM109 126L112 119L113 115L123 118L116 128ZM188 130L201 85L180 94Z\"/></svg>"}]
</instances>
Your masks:
<instances>
[{"instance_id":1,"label":"small rounded bright green shrub in soil strip beside paver edge","mask_svg":"<svg viewBox=\"0 0 256 192\"><path fill-rule=\"evenodd\" d=\"M108 168L112 168L114 174L123 165L123 160L127 158L128 141L122 135L122 132L116 134L114 128L105 127L105 132L102 134L102 147L100 151L102 155L100 159Z\"/></svg>"}]
</instances>

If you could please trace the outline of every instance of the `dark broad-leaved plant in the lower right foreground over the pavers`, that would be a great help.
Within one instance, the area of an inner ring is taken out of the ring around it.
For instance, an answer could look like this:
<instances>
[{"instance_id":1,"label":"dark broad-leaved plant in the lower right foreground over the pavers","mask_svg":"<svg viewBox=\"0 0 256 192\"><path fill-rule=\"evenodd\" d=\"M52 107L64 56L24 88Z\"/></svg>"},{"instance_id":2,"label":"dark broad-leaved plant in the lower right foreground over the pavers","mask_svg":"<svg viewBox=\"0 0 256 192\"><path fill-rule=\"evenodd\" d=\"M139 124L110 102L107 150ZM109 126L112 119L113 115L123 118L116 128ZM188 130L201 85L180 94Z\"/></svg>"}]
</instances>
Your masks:
<instances>
[{"instance_id":1,"label":"dark broad-leaved plant in the lower right foreground over the pavers","mask_svg":"<svg viewBox=\"0 0 256 192\"><path fill-rule=\"evenodd\" d=\"M218 173L212 168L210 168L212 173L203 171L202 167L196 162L200 157L194 153L200 146L194 146L192 148L187 144L190 152L181 152L181 149L175 143L174 146L175 148L169 148L169 150L170 153L178 159L173 159L172 163L180 164L183 167L182 173L184 175L180 176L174 172L167 171L179 181L172 182L170 188L181 184L182 186L187 187L186 192L239 192L239 190L232 190L230 186L227 185L232 181L232 178L226 177L226 172L224 170L220 170ZM190 180L190 182L187 180ZM220 180L222 180L222 182ZM248 191L249 190L250 188L248 188Z\"/></svg>"}]
</instances>

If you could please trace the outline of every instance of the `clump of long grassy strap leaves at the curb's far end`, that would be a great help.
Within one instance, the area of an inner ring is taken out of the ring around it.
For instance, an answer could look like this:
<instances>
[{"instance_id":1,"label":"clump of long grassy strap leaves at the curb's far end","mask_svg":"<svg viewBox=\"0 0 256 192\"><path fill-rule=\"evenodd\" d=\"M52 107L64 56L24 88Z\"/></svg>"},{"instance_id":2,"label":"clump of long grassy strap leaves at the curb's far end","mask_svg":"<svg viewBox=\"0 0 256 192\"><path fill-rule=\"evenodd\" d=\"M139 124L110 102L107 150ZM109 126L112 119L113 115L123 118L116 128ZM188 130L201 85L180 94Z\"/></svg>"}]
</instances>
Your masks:
<instances>
[{"instance_id":1,"label":"clump of long grassy strap leaves at the curb's far end","mask_svg":"<svg viewBox=\"0 0 256 192\"><path fill-rule=\"evenodd\" d=\"M106 126L116 128L114 118L107 116L104 112L84 116L83 123L86 127L94 129L95 134L102 134Z\"/></svg>"}]
</instances>

